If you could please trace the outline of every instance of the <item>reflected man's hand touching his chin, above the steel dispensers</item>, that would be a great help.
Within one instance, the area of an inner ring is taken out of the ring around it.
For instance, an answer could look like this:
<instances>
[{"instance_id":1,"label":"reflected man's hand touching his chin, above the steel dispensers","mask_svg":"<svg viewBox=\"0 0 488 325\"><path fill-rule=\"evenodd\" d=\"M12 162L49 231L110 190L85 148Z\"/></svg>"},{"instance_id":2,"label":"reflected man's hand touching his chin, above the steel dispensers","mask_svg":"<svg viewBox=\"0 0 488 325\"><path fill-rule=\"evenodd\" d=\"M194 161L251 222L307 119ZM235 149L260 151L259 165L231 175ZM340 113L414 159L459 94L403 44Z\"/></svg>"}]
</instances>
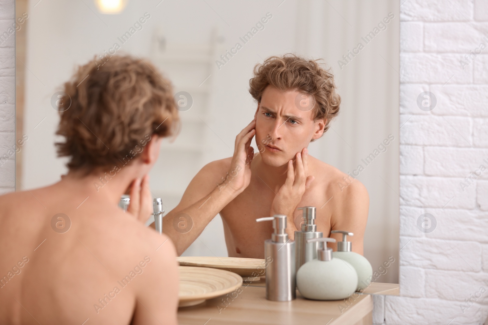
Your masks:
<instances>
[{"instance_id":1,"label":"reflected man's hand touching his chin, above the steel dispensers","mask_svg":"<svg viewBox=\"0 0 488 325\"><path fill-rule=\"evenodd\" d=\"M290 216L287 226L293 225L293 212L302 200L302 195L308 189L314 176L308 176L308 149L304 148L302 153L295 155L296 174L293 170L293 160L288 161L288 172L285 184L276 193L273 203L271 204L270 215L285 214ZM287 227L288 228L288 227ZM293 226L294 228L294 226Z\"/></svg>"}]
</instances>

